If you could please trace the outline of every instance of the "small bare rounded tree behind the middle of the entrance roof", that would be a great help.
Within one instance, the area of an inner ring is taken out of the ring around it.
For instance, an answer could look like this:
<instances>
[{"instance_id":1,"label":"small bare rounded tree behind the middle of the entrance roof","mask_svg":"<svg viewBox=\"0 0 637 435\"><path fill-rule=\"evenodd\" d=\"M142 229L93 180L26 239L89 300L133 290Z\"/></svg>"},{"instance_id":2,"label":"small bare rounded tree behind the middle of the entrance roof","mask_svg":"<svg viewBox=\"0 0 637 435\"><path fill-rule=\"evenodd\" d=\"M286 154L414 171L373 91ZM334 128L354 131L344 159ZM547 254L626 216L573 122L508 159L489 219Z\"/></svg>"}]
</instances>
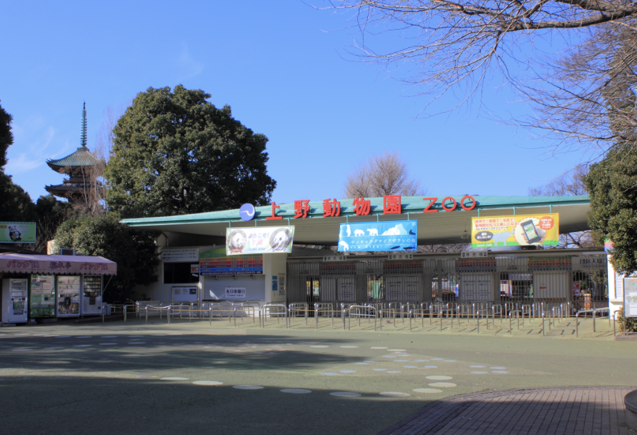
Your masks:
<instances>
[{"instance_id":1,"label":"small bare rounded tree behind the middle of the entrance roof","mask_svg":"<svg viewBox=\"0 0 637 435\"><path fill-rule=\"evenodd\" d=\"M345 185L348 198L421 194L420 181L409 177L406 163L397 152L370 157L348 175Z\"/></svg>"}]
</instances>

